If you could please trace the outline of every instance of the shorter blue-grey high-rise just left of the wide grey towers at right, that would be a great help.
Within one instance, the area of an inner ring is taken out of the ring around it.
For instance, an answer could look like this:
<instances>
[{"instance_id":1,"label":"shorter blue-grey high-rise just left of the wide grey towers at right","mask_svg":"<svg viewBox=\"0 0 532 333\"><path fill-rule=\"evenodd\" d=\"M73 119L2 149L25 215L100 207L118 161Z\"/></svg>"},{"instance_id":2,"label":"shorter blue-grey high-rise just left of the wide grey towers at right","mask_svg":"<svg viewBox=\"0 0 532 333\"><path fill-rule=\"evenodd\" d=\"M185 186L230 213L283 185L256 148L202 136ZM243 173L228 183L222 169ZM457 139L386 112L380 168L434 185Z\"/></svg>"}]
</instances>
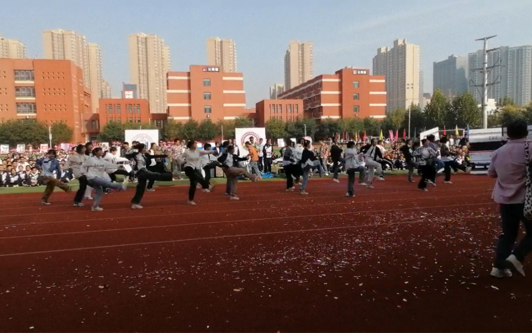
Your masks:
<instances>
[{"instance_id":1,"label":"shorter blue-grey high-rise just left of the wide grey towers at right","mask_svg":"<svg viewBox=\"0 0 532 333\"><path fill-rule=\"evenodd\" d=\"M468 60L465 56L450 55L433 64L433 87L448 98L468 91Z\"/></svg>"}]
</instances>

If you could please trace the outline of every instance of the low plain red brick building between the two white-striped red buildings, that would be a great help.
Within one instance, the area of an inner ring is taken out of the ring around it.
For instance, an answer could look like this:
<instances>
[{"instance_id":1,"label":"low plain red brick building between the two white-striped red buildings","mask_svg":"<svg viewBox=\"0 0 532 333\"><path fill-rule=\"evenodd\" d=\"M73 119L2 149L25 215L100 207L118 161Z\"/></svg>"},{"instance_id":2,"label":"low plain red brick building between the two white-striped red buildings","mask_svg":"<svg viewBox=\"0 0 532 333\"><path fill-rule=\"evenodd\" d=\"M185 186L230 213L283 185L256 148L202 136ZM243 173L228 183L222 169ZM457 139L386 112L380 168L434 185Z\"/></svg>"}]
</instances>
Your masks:
<instances>
[{"instance_id":1,"label":"low plain red brick building between the two white-striped red buildings","mask_svg":"<svg viewBox=\"0 0 532 333\"><path fill-rule=\"evenodd\" d=\"M303 118L303 100L262 100L255 110L258 127L264 127L270 119L296 121Z\"/></svg>"}]
</instances>

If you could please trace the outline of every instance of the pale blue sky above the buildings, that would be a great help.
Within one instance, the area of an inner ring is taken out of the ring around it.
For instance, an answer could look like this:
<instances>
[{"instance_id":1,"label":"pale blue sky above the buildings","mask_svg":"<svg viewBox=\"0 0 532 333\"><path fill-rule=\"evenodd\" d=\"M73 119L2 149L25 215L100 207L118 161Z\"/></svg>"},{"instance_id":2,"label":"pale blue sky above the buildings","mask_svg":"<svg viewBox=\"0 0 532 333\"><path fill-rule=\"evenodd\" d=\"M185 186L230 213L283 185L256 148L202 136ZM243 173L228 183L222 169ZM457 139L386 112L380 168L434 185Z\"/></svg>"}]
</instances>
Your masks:
<instances>
[{"instance_id":1,"label":"pale blue sky above the buildings","mask_svg":"<svg viewBox=\"0 0 532 333\"><path fill-rule=\"evenodd\" d=\"M41 32L76 30L103 50L104 78L119 96L129 81L127 36L153 33L170 45L172 70L206 62L206 38L232 38L244 73L248 106L284 82L290 40L314 43L314 75L345 66L371 69L381 46L406 38L421 47L425 92L432 68L451 54L467 55L475 39L498 35L490 46L532 44L530 0L0 0L0 34L20 39L30 58L43 56Z\"/></svg>"}]
</instances>

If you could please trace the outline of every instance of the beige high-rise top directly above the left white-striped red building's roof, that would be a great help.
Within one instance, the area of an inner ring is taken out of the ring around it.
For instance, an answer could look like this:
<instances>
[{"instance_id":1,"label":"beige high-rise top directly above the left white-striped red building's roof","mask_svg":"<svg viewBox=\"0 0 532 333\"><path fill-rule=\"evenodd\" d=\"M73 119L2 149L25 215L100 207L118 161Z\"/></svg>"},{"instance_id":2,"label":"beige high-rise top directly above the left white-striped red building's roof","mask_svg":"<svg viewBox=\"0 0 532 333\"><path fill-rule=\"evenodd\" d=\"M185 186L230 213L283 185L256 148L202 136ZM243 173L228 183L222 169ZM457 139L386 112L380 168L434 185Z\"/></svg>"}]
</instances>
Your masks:
<instances>
[{"instance_id":1,"label":"beige high-rise top directly above the left white-striped red building's roof","mask_svg":"<svg viewBox=\"0 0 532 333\"><path fill-rule=\"evenodd\" d=\"M230 38L207 38L207 65L219 66L227 73L237 72L235 41Z\"/></svg>"}]
</instances>

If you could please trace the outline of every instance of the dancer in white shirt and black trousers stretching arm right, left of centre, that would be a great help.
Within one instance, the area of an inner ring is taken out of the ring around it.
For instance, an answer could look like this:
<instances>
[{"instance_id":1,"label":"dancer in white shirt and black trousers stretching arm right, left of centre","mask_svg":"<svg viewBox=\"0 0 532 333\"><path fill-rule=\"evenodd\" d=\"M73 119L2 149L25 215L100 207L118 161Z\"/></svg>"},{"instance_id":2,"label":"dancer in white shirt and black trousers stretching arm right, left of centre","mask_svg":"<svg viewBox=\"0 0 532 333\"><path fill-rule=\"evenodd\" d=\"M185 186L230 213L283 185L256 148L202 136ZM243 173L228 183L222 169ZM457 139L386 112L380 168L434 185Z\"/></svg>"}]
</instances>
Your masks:
<instances>
[{"instance_id":1,"label":"dancer in white shirt and black trousers stretching arm right, left of centre","mask_svg":"<svg viewBox=\"0 0 532 333\"><path fill-rule=\"evenodd\" d=\"M214 150L198 150L196 149L196 142L193 140L188 141L187 150L183 153L182 159L184 161L185 175L190 180L190 188L188 189L188 205L196 205L194 202L194 194L196 193L197 184L201 184L203 192L210 192L212 186L205 181L205 178L201 175L200 171L200 157L203 155L212 155Z\"/></svg>"}]
</instances>

